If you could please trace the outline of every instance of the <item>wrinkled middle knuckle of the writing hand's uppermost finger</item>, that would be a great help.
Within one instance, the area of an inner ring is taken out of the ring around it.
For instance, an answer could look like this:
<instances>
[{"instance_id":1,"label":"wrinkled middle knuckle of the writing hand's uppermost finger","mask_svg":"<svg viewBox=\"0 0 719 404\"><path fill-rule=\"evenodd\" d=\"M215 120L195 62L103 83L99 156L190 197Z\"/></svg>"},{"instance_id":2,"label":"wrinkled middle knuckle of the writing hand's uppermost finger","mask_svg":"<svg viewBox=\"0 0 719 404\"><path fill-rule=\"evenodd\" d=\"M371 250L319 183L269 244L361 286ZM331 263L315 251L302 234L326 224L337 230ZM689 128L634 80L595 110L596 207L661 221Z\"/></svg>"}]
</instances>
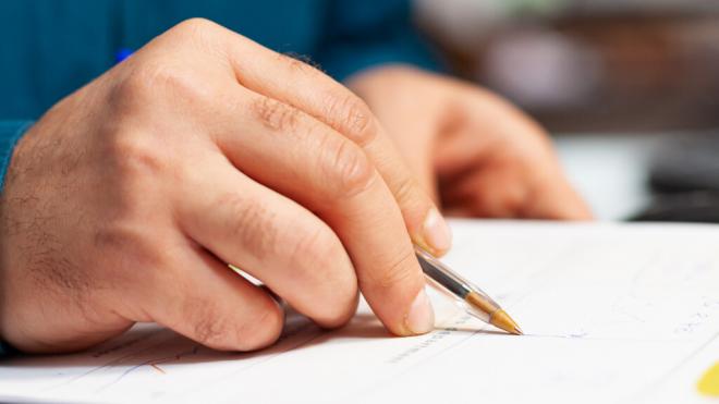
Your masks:
<instances>
[{"instance_id":1,"label":"wrinkled middle knuckle of the writing hand's uppermost finger","mask_svg":"<svg viewBox=\"0 0 719 404\"><path fill-rule=\"evenodd\" d=\"M360 97L353 94L332 95L327 105L332 126L338 127L352 142L364 147L377 137L374 115Z\"/></svg>"}]
</instances>

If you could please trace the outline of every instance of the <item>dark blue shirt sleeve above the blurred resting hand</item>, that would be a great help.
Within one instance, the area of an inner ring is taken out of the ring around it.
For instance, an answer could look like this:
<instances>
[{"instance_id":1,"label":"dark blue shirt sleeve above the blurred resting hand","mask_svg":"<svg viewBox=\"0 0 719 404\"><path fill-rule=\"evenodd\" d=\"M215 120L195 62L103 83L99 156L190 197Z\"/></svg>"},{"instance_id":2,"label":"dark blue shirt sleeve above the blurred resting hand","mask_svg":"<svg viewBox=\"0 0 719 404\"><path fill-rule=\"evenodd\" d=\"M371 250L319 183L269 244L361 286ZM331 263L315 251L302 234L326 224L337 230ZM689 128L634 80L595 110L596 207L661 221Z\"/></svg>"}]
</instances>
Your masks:
<instances>
[{"instance_id":1,"label":"dark blue shirt sleeve above the blurred resting hand","mask_svg":"<svg viewBox=\"0 0 719 404\"><path fill-rule=\"evenodd\" d=\"M407 0L334 0L327 13L326 39L316 59L338 81L389 63L443 70L414 26Z\"/></svg>"}]
</instances>

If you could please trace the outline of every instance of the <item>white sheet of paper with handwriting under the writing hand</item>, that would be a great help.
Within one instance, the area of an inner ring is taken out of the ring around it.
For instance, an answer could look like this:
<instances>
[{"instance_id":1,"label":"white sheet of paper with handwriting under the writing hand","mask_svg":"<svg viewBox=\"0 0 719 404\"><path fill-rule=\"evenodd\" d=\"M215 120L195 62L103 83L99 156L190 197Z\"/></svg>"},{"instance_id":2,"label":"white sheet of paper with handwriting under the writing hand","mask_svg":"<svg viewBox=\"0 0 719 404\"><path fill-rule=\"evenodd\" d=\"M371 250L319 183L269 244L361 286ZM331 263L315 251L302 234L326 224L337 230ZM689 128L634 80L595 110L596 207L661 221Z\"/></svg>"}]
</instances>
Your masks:
<instances>
[{"instance_id":1,"label":"white sheet of paper with handwriting under the writing hand","mask_svg":"<svg viewBox=\"0 0 719 404\"><path fill-rule=\"evenodd\" d=\"M154 326L86 353L0 364L0 396L88 402L703 402L719 359L719 227L455 221L446 261L524 336L434 294L437 329L389 336L288 316L275 346L218 353Z\"/></svg>"}]
</instances>

